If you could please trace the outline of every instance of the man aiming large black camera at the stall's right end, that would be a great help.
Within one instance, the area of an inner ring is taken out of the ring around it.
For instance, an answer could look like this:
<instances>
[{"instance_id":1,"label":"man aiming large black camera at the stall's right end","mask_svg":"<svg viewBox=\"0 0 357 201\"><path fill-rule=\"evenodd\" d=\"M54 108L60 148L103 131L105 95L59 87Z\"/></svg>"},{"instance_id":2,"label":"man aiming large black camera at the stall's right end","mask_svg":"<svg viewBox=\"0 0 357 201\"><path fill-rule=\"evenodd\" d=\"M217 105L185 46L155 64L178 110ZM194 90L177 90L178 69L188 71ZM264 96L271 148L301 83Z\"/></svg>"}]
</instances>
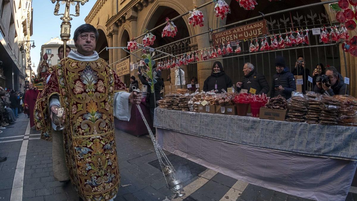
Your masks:
<instances>
[{"instance_id":1,"label":"man aiming large black camera at the stall's right end","mask_svg":"<svg viewBox=\"0 0 357 201\"><path fill-rule=\"evenodd\" d=\"M337 69L331 66L326 68L325 75L316 77L316 85L313 91L330 96L344 94L349 95L346 88L347 84L340 80Z\"/></svg>"}]
</instances>

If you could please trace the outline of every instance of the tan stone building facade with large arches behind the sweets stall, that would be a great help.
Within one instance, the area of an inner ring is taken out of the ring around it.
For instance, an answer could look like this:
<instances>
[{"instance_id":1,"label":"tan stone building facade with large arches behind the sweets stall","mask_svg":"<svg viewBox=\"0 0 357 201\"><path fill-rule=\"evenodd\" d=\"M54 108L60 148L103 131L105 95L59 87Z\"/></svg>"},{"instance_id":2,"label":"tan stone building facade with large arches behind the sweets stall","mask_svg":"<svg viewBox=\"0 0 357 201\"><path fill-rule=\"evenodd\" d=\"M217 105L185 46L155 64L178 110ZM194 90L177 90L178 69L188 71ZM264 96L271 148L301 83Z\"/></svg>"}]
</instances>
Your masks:
<instances>
[{"instance_id":1,"label":"tan stone building facade with large arches behind the sweets stall","mask_svg":"<svg viewBox=\"0 0 357 201\"><path fill-rule=\"evenodd\" d=\"M285 33L296 28L305 29L307 27L311 29L323 27L323 25L329 26L335 20L335 14L330 13L327 5L319 4L321 1L325 0L259 1L255 10L247 11L243 10L237 1L226 0L226 3L230 5L231 14L228 14L227 18L221 20L215 16L215 4L210 3L212 2L211 0L195 0L194 2L197 6L207 3L206 6L199 9L204 15L205 25L203 27L193 27L188 24L188 17L190 15L184 15L182 18L174 21L178 28L175 38L161 38L161 31L165 25L153 31L152 33L156 35L157 39L152 47L174 55L185 53L185 51L201 50L212 46L211 33L204 33L207 30L213 29L215 30L213 33L216 33L258 20L268 21L270 34ZM313 3L318 5L303 7ZM300 8L300 6L302 7ZM85 18L85 21L99 29L100 39L97 44L97 51L101 51L105 46L124 47L127 41L141 35L144 29L150 30L165 23L166 17L172 19L193 8L193 1L190 0L97 0ZM280 12L281 10L292 8L297 9ZM264 14L269 15L264 16ZM222 26L225 26L225 28L221 28ZM356 34L350 32L350 35ZM141 43L141 39L142 37L137 41ZM179 39L185 40L175 42ZM350 57L348 53L343 55L341 46L323 46L319 44L317 36L310 35L310 40L312 41L312 46L305 48L247 54L234 58L228 55L228 58L223 57L220 61L223 63L223 68L226 74L231 77L233 83L241 81L243 76L242 69L245 62L253 63L257 71L265 74L268 82L271 83L272 75L275 73L274 58L277 54L282 54L286 58L287 65L291 68L291 71L295 66L297 56L303 55L307 68L310 69L311 73L318 63L337 67L343 76L351 78L350 93L356 95L356 58ZM242 49L248 50L248 44L248 41L241 41ZM140 57L139 53L135 54ZM119 60L129 57L129 54L121 49L110 49L109 51L101 52L100 56L107 59L109 64L115 68L115 64ZM130 60L132 63L137 62L137 58L132 55L130 56ZM205 79L211 74L213 62L190 64L187 72L189 77L196 76L198 83L202 86ZM164 76L162 77L166 78L165 76L169 73L166 73L164 70ZM136 71L131 72L131 75L136 75ZM127 77L123 77L122 79L127 80Z\"/></svg>"}]
</instances>

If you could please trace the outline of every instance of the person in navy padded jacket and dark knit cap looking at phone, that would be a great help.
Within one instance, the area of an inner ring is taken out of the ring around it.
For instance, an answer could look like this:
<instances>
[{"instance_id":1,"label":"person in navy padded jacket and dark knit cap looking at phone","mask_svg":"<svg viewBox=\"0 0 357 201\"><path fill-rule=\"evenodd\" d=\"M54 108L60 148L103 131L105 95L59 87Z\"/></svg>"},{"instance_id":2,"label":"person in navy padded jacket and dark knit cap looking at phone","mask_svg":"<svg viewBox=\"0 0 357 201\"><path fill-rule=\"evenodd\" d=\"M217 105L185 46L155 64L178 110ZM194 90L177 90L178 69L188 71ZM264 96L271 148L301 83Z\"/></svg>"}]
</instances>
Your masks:
<instances>
[{"instance_id":1,"label":"person in navy padded jacket and dark knit cap looking at phone","mask_svg":"<svg viewBox=\"0 0 357 201\"><path fill-rule=\"evenodd\" d=\"M285 59L280 55L275 58L275 68L276 74L273 75L270 97L280 94L288 99L291 97L291 92L296 90L295 77L286 68Z\"/></svg>"}]
</instances>

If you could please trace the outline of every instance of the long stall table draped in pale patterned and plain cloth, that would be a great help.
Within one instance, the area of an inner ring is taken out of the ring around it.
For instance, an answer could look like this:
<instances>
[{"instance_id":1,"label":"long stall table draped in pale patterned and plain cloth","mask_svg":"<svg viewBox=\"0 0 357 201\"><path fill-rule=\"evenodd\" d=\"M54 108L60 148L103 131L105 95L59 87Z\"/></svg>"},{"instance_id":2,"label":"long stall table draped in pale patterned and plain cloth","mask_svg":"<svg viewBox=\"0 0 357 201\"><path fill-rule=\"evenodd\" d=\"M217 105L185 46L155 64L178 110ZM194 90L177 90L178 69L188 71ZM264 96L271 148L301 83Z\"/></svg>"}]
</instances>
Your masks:
<instances>
[{"instance_id":1,"label":"long stall table draped in pale patterned and plain cloth","mask_svg":"<svg viewBox=\"0 0 357 201\"><path fill-rule=\"evenodd\" d=\"M345 200L357 128L155 109L167 151L254 185L312 200Z\"/></svg>"}]
</instances>

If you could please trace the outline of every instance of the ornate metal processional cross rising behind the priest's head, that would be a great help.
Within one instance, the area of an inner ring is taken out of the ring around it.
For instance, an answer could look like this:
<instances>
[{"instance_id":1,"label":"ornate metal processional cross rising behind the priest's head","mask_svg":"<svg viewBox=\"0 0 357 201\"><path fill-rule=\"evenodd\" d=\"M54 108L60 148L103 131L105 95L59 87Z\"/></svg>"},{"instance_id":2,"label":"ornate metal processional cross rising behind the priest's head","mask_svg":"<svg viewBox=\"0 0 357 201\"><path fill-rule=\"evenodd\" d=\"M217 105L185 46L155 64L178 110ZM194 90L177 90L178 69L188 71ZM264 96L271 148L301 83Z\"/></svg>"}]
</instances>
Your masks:
<instances>
[{"instance_id":1,"label":"ornate metal processional cross rising behind the priest's head","mask_svg":"<svg viewBox=\"0 0 357 201\"><path fill-rule=\"evenodd\" d=\"M66 7L65 7L65 13L58 14L58 11L60 10L60 1L61 1L61 4L65 4ZM66 57L66 43L71 37L71 23L70 23L70 21L72 20L71 16L75 16L75 17L79 16L79 3L81 5L84 5L88 1L89 0L51 0L52 4L57 2L55 5L55 11L53 12L53 14L54 15L63 15L60 18L62 20L60 36L61 36L61 40L63 41L63 50L64 50L63 58ZM76 11L75 15L69 13L71 4L75 5L75 11Z\"/></svg>"}]
</instances>

